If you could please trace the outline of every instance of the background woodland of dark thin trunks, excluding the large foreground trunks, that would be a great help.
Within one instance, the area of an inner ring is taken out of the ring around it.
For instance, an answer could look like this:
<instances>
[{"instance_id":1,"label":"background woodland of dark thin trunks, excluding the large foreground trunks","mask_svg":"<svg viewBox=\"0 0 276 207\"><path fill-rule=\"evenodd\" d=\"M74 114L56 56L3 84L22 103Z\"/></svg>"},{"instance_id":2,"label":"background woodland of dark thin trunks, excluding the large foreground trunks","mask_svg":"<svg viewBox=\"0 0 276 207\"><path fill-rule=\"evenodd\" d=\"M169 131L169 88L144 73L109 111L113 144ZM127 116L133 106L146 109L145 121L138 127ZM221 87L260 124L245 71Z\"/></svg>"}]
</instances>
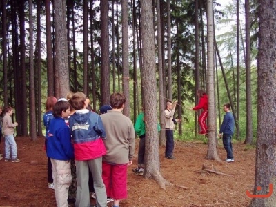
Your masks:
<instances>
[{"instance_id":1,"label":"background woodland of dark thin trunks, excluding the large foreground trunks","mask_svg":"<svg viewBox=\"0 0 276 207\"><path fill-rule=\"evenodd\" d=\"M124 92L129 99L125 114L135 121L144 93L141 78L141 3L128 1L124 19L122 2L119 1L66 1L57 5L61 8L55 8L55 3L51 1L18 2L1 2L0 59L2 105L17 109L17 135L30 135L32 126L37 135L42 135L41 113L45 111L46 97L65 97L69 90L85 92L91 97L95 111L108 103L111 92ZM162 87L159 97L163 101L179 101L177 116L182 117L186 128L190 129L185 131L179 126L179 139L183 134L184 137L194 137L193 129L198 127L197 121L187 109L197 101L196 89L207 90L206 1L152 3L152 9L155 10L155 47L159 47L158 43L161 45L160 55L155 50L156 59L158 57L157 87L160 90ZM216 36L218 126L221 122L221 104L231 102L236 115L236 139L248 137L247 143L252 144L257 127L257 97L254 95L257 90L254 64L257 54L257 3L251 2L248 8L250 19L253 19L248 22L252 28L250 39L253 39L248 59L252 59L253 63L247 69L245 10L242 3L237 10L233 10L237 3L222 10L219 3L213 2L215 30L228 28L228 32L219 32L221 34ZM59 9L62 17L55 16L55 10ZM160 16L156 13L160 13ZM235 15L241 19L238 24L233 21ZM57 28L56 18L63 18L61 28ZM235 32L237 29L239 32ZM59 35L63 35L60 38L66 41L59 43ZM58 57L59 49L61 55L66 57ZM60 72L58 68L66 71ZM249 70L249 75L246 75L246 70ZM253 91L253 96L246 96L247 88Z\"/></svg>"}]
</instances>

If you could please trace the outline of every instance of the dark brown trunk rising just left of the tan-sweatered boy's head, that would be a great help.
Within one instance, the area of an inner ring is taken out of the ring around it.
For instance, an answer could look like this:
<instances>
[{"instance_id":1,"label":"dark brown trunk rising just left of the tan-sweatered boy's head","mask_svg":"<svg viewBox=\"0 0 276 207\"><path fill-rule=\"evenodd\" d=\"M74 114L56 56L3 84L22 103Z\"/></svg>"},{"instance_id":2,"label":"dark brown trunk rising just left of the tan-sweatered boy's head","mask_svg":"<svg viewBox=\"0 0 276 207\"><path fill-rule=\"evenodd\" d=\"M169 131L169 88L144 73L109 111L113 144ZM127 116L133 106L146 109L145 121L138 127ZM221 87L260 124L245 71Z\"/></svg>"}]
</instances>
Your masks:
<instances>
[{"instance_id":1,"label":"dark brown trunk rising just left of the tan-sweatered boy's head","mask_svg":"<svg viewBox=\"0 0 276 207\"><path fill-rule=\"evenodd\" d=\"M101 0L101 105L110 104L108 0Z\"/></svg>"}]
</instances>

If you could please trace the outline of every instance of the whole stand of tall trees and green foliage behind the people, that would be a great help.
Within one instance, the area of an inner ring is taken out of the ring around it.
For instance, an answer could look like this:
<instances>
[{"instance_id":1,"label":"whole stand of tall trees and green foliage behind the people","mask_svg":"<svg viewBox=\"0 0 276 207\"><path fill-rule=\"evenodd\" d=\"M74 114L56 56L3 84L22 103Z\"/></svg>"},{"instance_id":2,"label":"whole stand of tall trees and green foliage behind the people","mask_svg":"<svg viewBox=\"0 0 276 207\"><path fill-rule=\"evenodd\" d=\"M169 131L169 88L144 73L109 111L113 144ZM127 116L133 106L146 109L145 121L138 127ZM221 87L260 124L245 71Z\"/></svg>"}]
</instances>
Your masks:
<instances>
[{"instance_id":1,"label":"whole stand of tall trees and green foliage behind the people","mask_svg":"<svg viewBox=\"0 0 276 207\"><path fill-rule=\"evenodd\" d=\"M133 122L146 104L152 137L157 131L150 124L158 120L164 129L165 101L177 100L176 117L183 120L177 139L204 139L209 159L216 159L210 154L216 153L222 106L230 103L235 140L254 144L259 156L262 144L271 155L276 3L270 3L237 0L222 8L215 0L1 0L0 103L14 108L16 135L35 141L43 136L48 96L81 91L97 111L112 92L123 92L124 115ZM199 88L210 97L208 139L197 136L198 115L188 110ZM164 143L164 130L159 137Z\"/></svg>"}]
</instances>

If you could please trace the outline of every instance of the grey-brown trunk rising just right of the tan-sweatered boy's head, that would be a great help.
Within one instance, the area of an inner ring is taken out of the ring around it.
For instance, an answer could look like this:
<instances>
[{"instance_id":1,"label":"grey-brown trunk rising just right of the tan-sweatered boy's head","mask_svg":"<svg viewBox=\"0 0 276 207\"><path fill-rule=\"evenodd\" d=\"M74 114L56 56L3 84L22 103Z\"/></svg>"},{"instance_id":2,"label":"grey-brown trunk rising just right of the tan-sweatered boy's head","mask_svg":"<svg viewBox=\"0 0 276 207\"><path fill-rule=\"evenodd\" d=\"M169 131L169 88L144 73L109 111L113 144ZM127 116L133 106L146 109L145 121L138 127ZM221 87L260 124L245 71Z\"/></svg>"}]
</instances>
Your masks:
<instances>
[{"instance_id":1,"label":"grey-brown trunk rising just right of the tan-sweatered boy's head","mask_svg":"<svg viewBox=\"0 0 276 207\"><path fill-rule=\"evenodd\" d=\"M129 95L129 68L128 68L128 0L121 1L122 10L122 43L123 43L123 93L126 96L124 115L130 117L130 95Z\"/></svg>"}]
</instances>

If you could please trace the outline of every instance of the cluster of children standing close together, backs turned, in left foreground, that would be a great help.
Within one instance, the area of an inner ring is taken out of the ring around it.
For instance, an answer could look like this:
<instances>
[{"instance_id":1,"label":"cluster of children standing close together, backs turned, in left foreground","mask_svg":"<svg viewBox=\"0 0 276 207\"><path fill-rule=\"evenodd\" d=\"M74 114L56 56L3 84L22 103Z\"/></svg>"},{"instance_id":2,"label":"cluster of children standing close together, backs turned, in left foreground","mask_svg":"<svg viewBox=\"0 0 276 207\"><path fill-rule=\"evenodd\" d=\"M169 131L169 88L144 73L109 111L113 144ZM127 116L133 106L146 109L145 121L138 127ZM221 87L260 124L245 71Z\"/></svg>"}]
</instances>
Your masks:
<instances>
[{"instance_id":1,"label":"cluster of children standing close together, backs turned, in left foreground","mask_svg":"<svg viewBox=\"0 0 276 207\"><path fill-rule=\"evenodd\" d=\"M127 197L126 170L132 164L135 150L133 124L122 114L126 101L124 95L111 95L112 108L109 107L112 110L101 116L88 110L88 101L86 95L76 92L68 99L46 103L43 121L46 125L46 153L50 159L48 172L52 168L53 179L49 179L48 173L49 188L55 189L57 206L70 203L90 206L89 183L92 182L96 206L107 206L107 198L113 197L113 206L116 207ZM107 106L103 108L106 110Z\"/></svg>"}]
</instances>

